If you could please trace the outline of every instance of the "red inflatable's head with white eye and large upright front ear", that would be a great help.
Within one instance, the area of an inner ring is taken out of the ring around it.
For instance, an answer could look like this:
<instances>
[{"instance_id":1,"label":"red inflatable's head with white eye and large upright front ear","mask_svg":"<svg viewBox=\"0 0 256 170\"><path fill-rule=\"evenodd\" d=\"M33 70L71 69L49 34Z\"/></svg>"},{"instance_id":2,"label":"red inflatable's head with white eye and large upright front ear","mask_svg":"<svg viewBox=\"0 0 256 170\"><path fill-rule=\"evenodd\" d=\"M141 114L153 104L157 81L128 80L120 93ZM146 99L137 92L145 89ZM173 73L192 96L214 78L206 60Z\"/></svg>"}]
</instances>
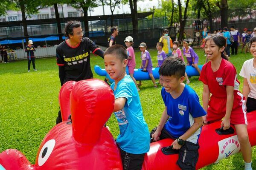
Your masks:
<instances>
[{"instance_id":1,"label":"red inflatable's head with white eye and large upright front ear","mask_svg":"<svg viewBox=\"0 0 256 170\"><path fill-rule=\"evenodd\" d=\"M122 170L116 142L104 127L114 106L111 88L97 79L67 85L73 87L70 94L72 122L61 122L47 133L35 164L30 164L20 151L8 149L0 153L0 169Z\"/></svg>"}]
</instances>

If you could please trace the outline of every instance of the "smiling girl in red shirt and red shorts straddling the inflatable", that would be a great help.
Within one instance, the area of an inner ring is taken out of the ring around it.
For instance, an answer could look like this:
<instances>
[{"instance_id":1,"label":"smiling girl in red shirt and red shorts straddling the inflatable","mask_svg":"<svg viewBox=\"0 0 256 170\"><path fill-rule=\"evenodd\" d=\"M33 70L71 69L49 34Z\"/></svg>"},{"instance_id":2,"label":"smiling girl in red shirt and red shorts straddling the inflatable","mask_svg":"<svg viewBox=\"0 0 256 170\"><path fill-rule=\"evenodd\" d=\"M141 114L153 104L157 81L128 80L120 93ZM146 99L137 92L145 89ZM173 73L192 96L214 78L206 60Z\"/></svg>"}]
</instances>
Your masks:
<instances>
[{"instance_id":1,"label":"smiling girl in red shirt and red shorts straddling the inflatable","mask_svg":"<svg viewBox=\"0 0 256 170\"><path fill-rule=\"evenodd\" d=\"M224 130L233 124L245 162L245 170L252 170L252 151L247 133L245 98L239 91L236 68L224 55L226 39L221 35L207 38L204 51L210 60L203 68L199 80L204 83L203 108L207 112L205 123L222 120ZM210 93L212 94L210 99ZM208 107L209 106L209 107Z\"/></svg>"}]
</instances>

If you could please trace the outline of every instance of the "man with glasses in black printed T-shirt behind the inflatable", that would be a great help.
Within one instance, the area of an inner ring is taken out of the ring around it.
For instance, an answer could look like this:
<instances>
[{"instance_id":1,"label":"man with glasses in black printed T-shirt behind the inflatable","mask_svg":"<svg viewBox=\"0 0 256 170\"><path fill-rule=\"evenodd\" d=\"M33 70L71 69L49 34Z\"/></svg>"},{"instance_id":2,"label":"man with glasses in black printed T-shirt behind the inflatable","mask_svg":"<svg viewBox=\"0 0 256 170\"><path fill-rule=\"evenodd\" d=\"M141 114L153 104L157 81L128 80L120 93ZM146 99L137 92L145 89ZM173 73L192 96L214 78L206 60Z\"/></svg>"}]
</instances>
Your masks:
<instances>
[{"instance_id":1,"label":"man with glasses in black printed T-shirt behind the inflatable","mask_svg":"<svg viewBox=\"0 0 256 170\"><path fill-rule=\"evenodd\" d=\"M83 37L81 23L69 21L65 26L67 40L61 42L56 48L57 65L61 86L70 80L80 81L93 78L90 68L90 51L104 58L104 51L87 37ZM56 124L62 122L59 111Z\"/></svg>"}]
</instances>

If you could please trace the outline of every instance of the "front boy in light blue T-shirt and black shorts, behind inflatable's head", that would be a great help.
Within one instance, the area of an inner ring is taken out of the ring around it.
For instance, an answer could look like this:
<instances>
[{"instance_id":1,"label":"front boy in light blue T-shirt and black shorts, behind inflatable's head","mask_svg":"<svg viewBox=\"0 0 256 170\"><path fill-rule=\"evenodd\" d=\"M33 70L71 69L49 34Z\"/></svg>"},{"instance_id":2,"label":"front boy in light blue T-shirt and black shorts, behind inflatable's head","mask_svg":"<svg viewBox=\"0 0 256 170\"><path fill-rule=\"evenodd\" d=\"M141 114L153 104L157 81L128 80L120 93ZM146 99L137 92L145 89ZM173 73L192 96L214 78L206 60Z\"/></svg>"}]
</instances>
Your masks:
<instances>
[{"instance_id":1,"label":"front boy in light blue T-shirt and black shorts, behind inflatable's head","mask_svg":"<svg viewBox=\"0 0 256 170\"><path fill-rule=\"evenodd\" d=\"M114 114L120 134L116 143L120 149L124 170L142 169L149 151L150 136L136 85L126 75L128 55L124 46L112 45L104 53L105 69L115 82L110 86L115 95Z\"/></svg>"}]
</instances>

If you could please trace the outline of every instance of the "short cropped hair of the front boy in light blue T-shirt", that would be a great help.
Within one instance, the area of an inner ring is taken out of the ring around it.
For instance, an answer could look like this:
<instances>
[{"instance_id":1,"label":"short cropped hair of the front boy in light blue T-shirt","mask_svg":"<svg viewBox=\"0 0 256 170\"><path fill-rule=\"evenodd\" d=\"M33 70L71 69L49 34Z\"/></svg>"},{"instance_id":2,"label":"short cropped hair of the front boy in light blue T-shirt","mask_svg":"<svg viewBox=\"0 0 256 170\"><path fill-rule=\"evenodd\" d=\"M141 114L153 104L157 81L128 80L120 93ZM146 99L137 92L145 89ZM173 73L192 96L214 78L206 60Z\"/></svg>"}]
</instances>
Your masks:
<instances>
[{"instance_id":1,"label":"short cropped hair of the front boy in light blue T-shirt","mask_svg":"<svg viewBox=\"0 0 256 170\"><path fill-rule=\"evenodd\" d=\"M104 53L104 57L107 54L116 55L116 57L119 58L121 61L123 61L124 59L128 59L126 48L118 44L112 45L111 47L107 48Z\"/></svg>"}]
</instances>

